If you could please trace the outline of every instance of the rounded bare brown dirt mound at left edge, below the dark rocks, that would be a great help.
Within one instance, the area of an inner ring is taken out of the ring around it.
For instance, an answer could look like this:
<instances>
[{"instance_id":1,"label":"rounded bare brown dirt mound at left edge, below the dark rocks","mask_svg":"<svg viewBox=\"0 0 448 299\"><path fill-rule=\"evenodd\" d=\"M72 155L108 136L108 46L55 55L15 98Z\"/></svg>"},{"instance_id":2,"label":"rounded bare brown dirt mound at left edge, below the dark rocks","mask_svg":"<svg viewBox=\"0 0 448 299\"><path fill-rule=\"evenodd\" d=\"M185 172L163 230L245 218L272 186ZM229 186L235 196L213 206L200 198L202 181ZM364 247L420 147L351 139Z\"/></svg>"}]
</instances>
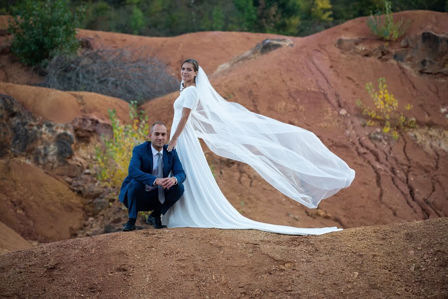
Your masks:
<instances>
[{"instance_id":1,"label":"rounded bare brown dirt mound at left edge, below the dark rocks","mask_svg":"<svg viewBox=\"0 0 448 299\"><path fill-rule=\"evenodd\" d=\"M82 199L37 166L3 158L0 176L0 221L22 237L39 242L64 240L82 226ZM7 233L3 228L0 231Z\"/></svg>"}]
</instances>

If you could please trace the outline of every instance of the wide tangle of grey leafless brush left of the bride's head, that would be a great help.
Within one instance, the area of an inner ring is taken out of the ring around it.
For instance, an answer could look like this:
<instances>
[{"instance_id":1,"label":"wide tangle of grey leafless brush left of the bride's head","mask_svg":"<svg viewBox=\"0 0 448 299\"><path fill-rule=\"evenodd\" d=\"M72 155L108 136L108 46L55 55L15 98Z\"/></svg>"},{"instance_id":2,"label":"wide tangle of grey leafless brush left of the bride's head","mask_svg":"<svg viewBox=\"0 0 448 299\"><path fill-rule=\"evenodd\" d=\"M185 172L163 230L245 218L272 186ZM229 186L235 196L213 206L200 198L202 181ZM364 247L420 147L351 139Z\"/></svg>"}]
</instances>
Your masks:
<instances>
[{"instance_id":1,"label":"wide tangle of grey leafless brush left of the bride's head","mask_svg":"<svg viewBox=\"0 0 448 299\"><path fill-rule=\"evenodd\" d=\"M146 49L87 50L80 56L59 55L46 68L41 86L91 91L126 101L159 97L178 90L179 81Z\"/></svg>"}]
</instances>

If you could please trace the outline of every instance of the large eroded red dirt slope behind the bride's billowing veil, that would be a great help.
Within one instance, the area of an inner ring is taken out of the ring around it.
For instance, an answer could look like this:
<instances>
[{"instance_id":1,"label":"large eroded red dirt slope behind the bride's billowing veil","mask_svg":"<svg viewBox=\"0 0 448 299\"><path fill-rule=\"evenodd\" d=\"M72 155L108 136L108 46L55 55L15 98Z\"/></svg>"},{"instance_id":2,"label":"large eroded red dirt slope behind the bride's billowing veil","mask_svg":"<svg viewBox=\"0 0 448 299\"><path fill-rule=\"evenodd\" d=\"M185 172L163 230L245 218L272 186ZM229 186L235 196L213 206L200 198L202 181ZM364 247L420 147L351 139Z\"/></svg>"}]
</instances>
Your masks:
<instances>
[{"instance_id":1,"label":"large eroded red dirt slope behind the bride's billowing veil","mask_svg":"<svg viewBox=\"0 0 448 299\"><path fill-rule=\"evenodd\" d=\"M396 17L413 20L403 39L419 38L428 30L443 34L448 26L446 13L407 11ZM385 46L370 32L366 18L357 18L293 38L294 47L236 64L210 80L229 101L314 132L355 169L352 185L322 201L318 210L309 210L264 184L247 165L209 154L218 184L243 214L271 223L347 228L447 216L448 123L442 113L448 105L447 76L417 72L390 58L392 54L376 57L338 48L341 38L360 39L371 52ZM384 51L400 51L401 41L389 43ZM201 57L196 58L201 63ZM377 88L376 80L382 76L401 111L406 104L414 105L404 113L419 123L417 130L403 132L398 141L363 127L366 119L355 104L357 99L371 101L365 84L373 82ZM176 97L172 93L145 104L150 121L170 123ZM235 185L236 179L240 184Z\"/></svg>"}]
</instances>

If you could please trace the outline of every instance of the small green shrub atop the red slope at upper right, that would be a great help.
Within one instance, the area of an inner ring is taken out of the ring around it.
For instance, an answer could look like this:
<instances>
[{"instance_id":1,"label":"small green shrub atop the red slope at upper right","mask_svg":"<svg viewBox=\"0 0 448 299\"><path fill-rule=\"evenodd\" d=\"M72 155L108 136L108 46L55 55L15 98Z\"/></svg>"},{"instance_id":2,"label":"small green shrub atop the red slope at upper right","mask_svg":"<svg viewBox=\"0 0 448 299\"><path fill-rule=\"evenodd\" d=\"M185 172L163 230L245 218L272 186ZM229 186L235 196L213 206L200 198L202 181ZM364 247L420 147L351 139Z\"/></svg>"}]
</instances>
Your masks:
<instances>
[{"instance_id":1,"label":"small green shrub atop the red slope at upper right","mask_svg":"<svg viewBox=\"0 0 448 299\"><path fill-rule=\"evenodd\" d=\"M384 5L385 14L377 13L376 15L370 15L367 19L367 26L382 39L397 40L407 30L410 20L402 18L398 22L395 22L391 2L385 0Z\"/></svg>"}]
</instances>

